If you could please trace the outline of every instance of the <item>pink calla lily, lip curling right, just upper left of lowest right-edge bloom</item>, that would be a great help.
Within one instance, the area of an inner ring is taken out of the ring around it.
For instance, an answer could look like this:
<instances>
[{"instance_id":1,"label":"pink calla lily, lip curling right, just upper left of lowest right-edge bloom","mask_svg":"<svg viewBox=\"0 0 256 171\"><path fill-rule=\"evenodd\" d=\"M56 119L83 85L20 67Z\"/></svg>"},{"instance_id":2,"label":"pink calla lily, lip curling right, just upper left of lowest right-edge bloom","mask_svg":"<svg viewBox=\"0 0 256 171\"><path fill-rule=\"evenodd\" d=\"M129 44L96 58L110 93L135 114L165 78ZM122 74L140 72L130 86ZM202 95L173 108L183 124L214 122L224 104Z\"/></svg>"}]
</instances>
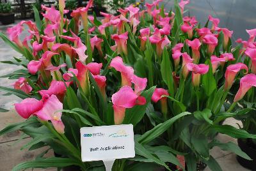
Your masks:
<instances>
[{"instance_id":1,"label":"pink calla lily, lip curling right, just upper left of lowest right-edge bloom","mask_svg":"<svg viewBox=\"0 0 256 171\"><path fill-rule=\"evenodd\" d=\"M240 70L245 70L244 74L248 73L248 67L243 63L230 64L225 72L225 91L232 87L236 74Z\"/></svg>"}]
</instances>

